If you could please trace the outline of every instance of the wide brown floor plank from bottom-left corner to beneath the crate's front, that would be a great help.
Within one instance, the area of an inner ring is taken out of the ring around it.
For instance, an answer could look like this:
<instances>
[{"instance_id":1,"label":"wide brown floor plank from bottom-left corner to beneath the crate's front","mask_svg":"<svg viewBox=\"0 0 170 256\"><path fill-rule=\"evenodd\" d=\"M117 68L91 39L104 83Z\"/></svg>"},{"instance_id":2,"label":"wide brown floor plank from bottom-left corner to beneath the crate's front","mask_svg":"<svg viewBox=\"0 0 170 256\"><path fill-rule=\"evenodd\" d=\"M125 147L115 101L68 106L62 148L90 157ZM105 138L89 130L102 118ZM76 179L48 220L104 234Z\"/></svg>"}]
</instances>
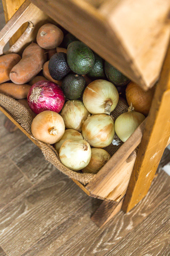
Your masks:
<instances>
[{"instance_id":1,"label":"wide brown floor plank from bottom-left corner to beneath the crate's front","mask_svg":"<svg viewBox=\"0 0 170 256\"><path fill-rule=\"evenodd\" d=\"M8 256L23 254L86 200L88 196L72 180L53 173L0 210L1 246Z\"/></svg>"}]
</instances>

